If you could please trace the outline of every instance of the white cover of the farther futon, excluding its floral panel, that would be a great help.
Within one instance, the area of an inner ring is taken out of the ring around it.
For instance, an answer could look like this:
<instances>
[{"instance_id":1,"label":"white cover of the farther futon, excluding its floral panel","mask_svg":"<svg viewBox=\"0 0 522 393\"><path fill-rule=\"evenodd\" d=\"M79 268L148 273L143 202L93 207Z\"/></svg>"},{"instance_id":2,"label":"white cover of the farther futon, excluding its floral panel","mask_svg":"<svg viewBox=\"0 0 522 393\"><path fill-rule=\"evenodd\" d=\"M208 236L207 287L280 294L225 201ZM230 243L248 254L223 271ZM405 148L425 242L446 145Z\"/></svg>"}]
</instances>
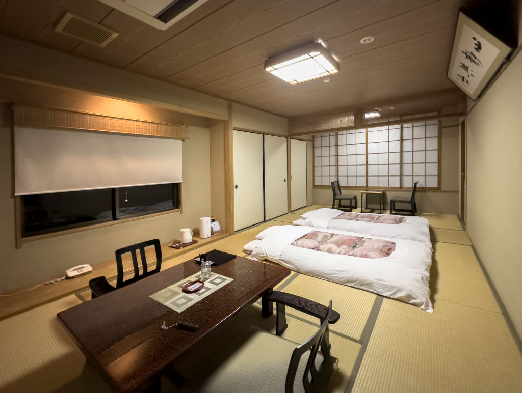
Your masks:
<instances>
[{"instance_id":1,"label":"white cover of the farther futon, excluding its floral panel","mask_svg":"<svg viewBox=\"0 0 522 393\"><path fill-rule=\"evenodd\" d=\"M402 224L380 224L336 219L335 217L341 213L343 212L340 210L323 207L306 212L301 216L303 218L295 220L293 224L315 228L347 230L357 232L358 234L382 236L393 239L416 240L429 244L431 247L430 223L423 217L400 216L406 218L406 222ZM384 216L385 214L375 215Z\"/></svg>"}]
</instances>

